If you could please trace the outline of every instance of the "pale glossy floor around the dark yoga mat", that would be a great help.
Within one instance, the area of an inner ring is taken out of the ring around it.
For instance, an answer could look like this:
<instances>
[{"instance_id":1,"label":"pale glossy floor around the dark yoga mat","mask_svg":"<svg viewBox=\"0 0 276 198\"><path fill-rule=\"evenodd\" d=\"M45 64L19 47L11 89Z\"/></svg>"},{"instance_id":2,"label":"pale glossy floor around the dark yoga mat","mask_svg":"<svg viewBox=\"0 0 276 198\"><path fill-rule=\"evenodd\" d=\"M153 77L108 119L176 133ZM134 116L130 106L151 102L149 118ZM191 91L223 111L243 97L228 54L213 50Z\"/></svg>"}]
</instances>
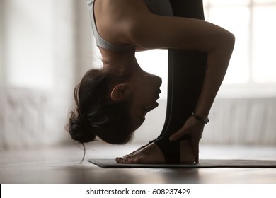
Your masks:
<instances>
[{"instance_id":1,"label":"pale glossy floor around the dark yoga mat","mask_svg":"<svg viewBox=\"0 0 276 198\"><path fill-rule=\"evenodd\" d=\"M115 158L139 145L88 144L0 153L0 183L276 183L276 168L99 168L89 158ZM200 158L276 160L276 147L201 146Z\"/></svg>"}]
</instances>

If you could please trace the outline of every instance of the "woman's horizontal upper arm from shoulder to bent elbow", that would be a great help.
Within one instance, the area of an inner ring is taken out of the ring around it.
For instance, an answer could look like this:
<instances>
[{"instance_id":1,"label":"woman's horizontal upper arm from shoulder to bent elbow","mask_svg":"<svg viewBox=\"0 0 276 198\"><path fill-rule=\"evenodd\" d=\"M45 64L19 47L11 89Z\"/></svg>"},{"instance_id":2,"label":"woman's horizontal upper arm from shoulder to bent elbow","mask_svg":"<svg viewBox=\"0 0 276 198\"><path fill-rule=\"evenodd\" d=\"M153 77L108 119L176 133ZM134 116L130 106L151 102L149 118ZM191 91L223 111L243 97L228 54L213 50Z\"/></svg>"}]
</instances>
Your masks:
<instances>
[{"instance_id":1,"label":"woman's horizontal upper arm from shoulder to bent elbow","mask_svg":"<svg viewBox=\"0 0 276 198\"><path fill-rule=\"evenodd\" d=\"M174 48L212 52L228 31L194 18L141 15L132 18L127 40L132 45L153 48Z\"/></svg>"}]
</instances>

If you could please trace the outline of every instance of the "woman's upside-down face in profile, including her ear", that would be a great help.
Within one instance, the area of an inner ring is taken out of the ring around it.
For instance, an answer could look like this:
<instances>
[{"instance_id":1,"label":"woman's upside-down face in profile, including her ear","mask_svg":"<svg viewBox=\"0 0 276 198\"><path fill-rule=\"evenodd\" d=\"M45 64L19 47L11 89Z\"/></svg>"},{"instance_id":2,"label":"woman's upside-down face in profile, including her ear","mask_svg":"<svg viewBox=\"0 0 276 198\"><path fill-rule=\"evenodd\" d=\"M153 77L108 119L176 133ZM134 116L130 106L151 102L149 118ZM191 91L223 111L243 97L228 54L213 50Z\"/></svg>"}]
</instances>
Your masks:
<instances>
[{"instance_id":1,"label":"woman's upside-down face in profile, including her ear","mask_svg":"<svg viewBox=\"0 0 276 198\"><path fill-rule=\"evenodd\" d=\"M111 91L113 102L127 100L129 103L130 122L133 133L144 122L146 113L158 107L162 80L159 76L149 74L137 64L132 70L130 78L125 83L120 83ZM132 136L132 134L126 134Z\"/></svg>"}]
</instances>

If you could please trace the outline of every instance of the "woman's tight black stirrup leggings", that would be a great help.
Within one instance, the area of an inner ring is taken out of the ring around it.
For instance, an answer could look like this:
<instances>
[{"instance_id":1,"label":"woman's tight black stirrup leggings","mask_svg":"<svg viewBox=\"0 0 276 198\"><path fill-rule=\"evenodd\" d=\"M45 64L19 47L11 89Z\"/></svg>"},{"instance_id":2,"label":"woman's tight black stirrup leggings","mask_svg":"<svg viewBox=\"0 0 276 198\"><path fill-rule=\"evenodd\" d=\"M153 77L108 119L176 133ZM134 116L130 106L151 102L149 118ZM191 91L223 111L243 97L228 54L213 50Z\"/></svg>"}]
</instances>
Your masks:
<instances>
[{"instance_id":1,"label":"woman's tight black stirrup leggings","mask_svg":"<svg viewBox=\"0 0 276 198\"><path fill-rule=\"evenodd\" d=\"M174 16L204 19L202 0L171 0L171 5ZM159 138L155 140L165 156L166 163L180 161L179 141L171 142L168 138L183 127L195 110L206 65L206 53L195 50L168 50L166 119Z\"/></svg>"}]
</instances>

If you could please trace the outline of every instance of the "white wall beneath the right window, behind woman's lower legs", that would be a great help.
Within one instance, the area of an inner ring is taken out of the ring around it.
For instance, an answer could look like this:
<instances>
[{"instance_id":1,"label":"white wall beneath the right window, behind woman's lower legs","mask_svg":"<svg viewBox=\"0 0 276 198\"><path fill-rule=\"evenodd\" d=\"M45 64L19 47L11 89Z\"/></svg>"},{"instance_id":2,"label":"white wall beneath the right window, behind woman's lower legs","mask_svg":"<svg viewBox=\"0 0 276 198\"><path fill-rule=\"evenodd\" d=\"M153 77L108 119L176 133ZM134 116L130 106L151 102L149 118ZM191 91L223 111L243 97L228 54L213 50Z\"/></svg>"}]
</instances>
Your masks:
<instances>
[{"instance_id":1,"label":"white wall beneath the right window, behind woman's lower legs","mask_svg":"<svg viewBox=\"0 0 276 198\"><path fill-rule=\"evenodd\" d=\"M166 100L146 115L134 141L155 139L163 128ZM215 100L201 144L276 146L276 97Z\"/></svg>"}]
</instances>

